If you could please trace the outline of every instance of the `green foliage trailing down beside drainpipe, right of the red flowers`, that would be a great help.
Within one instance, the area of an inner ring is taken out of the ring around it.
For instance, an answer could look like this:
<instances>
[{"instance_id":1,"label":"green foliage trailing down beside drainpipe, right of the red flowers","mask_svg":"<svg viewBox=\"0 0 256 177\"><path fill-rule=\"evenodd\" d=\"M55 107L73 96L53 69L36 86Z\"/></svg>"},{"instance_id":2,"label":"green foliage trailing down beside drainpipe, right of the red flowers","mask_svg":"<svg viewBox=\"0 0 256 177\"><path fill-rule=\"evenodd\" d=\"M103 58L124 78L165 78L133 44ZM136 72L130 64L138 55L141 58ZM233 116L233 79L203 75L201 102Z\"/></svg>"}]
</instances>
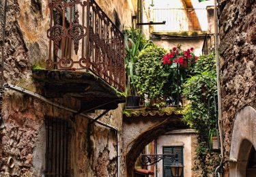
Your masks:
<instances>
[{"instance_id":1,"label":"green foliage trailing down beside drainpipe, right of the red flowers","mask_svg":"<svg viewBox=\"0 0 256 177\"><path fill-rule=\"evenodd\" d=\"M216 62L214 53L199 57L191 69L191 76L183 84L183 94L190 104L183 111L182 120L198 133L197 160L203 176L213 173L218 156L210 152L209 137L216 134L217 95Z\"/></svg>"}]
</instances>

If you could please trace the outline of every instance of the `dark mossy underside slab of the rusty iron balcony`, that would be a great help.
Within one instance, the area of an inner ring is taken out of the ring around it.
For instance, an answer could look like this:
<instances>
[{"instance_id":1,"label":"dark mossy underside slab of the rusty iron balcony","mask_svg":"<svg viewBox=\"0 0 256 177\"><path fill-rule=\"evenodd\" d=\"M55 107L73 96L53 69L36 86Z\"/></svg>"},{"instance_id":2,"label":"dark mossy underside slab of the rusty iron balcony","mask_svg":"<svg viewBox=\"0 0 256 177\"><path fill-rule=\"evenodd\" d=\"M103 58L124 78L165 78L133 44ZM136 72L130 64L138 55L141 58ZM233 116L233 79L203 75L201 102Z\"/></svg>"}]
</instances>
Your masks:
<instances>
[{"instance_id":1,"label":"dark mossy underside slab of the rusty iron balcony","mask_svg":"<svg viewBox=\"0 0 256 177\"><path fill-rule=\"evenodd\" d=\"M49 99L71 97L80 112L114 110L125 102L123 93L89 71L36 70L37 92Z\"/></svg>"}]
</instances>

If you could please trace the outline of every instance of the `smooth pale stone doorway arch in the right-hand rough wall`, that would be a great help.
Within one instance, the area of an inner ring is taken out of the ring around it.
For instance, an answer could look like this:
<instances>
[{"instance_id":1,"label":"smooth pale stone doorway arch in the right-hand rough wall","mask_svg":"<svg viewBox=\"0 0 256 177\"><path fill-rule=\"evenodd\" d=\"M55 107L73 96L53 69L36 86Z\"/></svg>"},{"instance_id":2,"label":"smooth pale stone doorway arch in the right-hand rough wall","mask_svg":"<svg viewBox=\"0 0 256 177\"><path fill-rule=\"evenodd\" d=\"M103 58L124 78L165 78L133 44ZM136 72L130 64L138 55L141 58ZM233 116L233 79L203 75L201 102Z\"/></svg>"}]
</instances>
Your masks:
<instances>
[{"instance_id":1,"label":"smooth pale stone doorway arch in the right-hand rough wall","mask_svg":"<svg viewBox=\"0 0 256 177\"><path fill-rule=\"evenodd\" d=\"M244 107L237 115L231 138L229 176L244 177L251 149L256 147L256 110Z\"/></svg>"}]
</instances>

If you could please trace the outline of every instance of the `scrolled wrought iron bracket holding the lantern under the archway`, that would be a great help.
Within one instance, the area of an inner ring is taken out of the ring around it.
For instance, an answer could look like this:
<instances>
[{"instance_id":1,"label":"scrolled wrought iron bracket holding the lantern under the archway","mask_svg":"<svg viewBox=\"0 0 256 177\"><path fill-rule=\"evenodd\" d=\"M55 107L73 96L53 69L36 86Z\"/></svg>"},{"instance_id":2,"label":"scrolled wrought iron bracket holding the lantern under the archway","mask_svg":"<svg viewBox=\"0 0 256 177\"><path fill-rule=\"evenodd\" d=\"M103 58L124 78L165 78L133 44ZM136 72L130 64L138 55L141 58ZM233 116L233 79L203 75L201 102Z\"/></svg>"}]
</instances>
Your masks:
<instances>
[{"instance_id":1,"label":"scrolled wrought iron bracket holding the lantern under the archway","mask_svg":"<svg viewBox=\"0 0 256 177\"><path fill-rule=\"evenodd\" d=\"M158 163L162 159L170 159L171 162L174 162L177 159L177 154L164 154L164 155L142 155L141 156L141 165L150 166Z\"/></svg>"}]
</instances>

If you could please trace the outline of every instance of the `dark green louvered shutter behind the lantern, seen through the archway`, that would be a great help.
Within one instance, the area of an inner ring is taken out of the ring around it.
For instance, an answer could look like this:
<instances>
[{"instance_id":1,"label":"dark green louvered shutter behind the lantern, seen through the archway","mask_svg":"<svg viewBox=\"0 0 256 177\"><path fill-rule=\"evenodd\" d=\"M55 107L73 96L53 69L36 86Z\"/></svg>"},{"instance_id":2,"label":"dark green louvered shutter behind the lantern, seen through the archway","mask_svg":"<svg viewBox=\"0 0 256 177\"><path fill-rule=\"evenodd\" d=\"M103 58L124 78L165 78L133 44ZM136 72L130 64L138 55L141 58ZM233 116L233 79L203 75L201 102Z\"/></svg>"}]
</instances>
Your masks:
<instances>
[{"instance_id":1,"label":"dark green louvered shutter behind the lantern, seen through the archway","mask_svg":"<svg viewBox=\"0 0 256 177\"><path fill-rule=\"evenodd\" d=\"M184 165L184 157L183 157L183 146L164 146L162 148L162 154L176 154L177 159L182 165ZM170 165L173 162L170 159L163 159L162 161L162 169L163 169L163 177L172 177L171 176L171 167ZM182 177L184 174L182 173Z\"/></svg>"}]
</instances>

